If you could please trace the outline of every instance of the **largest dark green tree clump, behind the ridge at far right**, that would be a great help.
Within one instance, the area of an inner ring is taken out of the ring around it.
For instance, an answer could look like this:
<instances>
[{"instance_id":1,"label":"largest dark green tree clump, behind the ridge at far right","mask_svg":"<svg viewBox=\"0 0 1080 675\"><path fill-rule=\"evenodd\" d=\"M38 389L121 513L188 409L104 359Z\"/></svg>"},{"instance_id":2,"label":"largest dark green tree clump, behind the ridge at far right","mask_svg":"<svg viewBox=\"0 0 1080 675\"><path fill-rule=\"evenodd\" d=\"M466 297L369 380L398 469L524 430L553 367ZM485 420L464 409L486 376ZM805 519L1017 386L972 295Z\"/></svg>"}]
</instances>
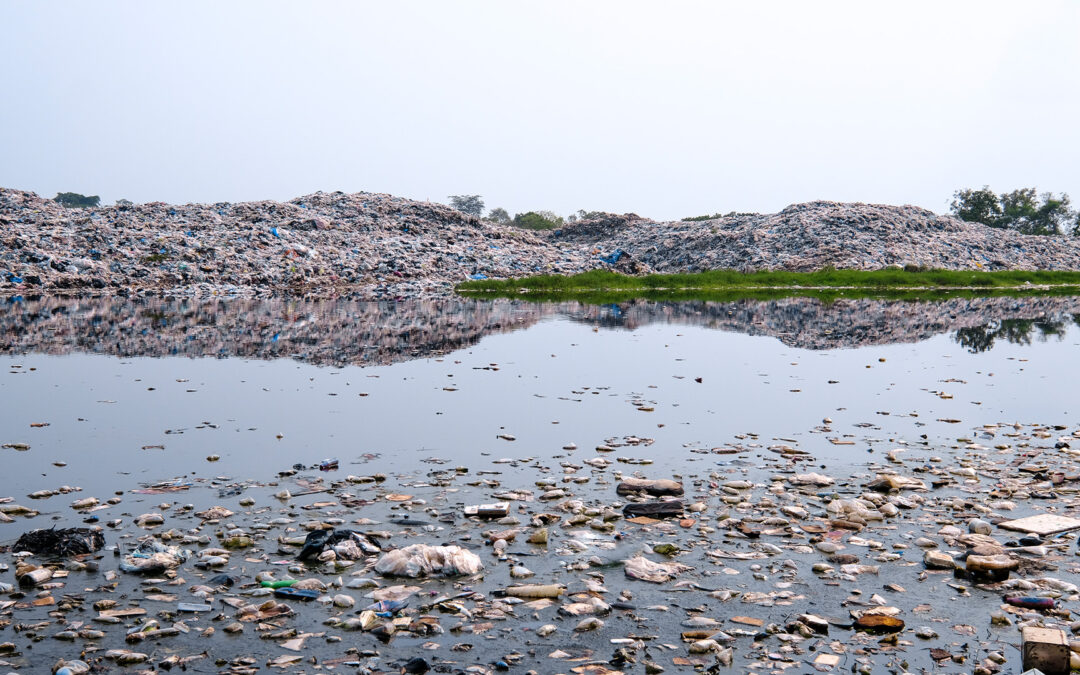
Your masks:
<instances>
[{"instance_id":1,"label":"largest dark green tree clump, behind the ridge at far right","mask_svg":"<svg viewBox=\"0 0 1080 675\"><path fill-rule=\"evenodd\" d=\"M1080 215L1070 207L1069 195L1044 192L1039 200L1035 188L995 194L989 187L958 190L950 208L962 220L982 222L1024 234L1080 234Z\"/></svg>"}]
</instances>

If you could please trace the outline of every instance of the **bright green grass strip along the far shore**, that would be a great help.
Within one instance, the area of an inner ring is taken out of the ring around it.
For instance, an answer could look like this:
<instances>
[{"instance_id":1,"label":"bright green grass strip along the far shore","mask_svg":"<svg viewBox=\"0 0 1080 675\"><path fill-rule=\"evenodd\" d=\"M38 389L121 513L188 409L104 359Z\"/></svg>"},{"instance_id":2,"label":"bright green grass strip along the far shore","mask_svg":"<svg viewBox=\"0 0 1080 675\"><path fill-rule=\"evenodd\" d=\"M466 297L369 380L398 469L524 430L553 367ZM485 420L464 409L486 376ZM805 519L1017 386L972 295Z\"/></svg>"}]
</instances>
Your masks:
<instances>
[{"instance_id":1,"label":"bright green grass strip along the far shore","mask_svg":"<svg viewBox=\"0 0 1080 675\"><path fill-rule=\"evenodd\" d=\"M1032 287L1034 286L1034 287ZM1080 271L959 271L934 269L835 270L816 272L739 272L712 270L687 274L627 276L592 270L572 276L545 274L524 279L467 281L463 295L521 294L581 299L619 297L646 299L724 299L747 297L910 297L1016 295L1053 293L1080 295ZM595 300L593 300L595 301ZM609 301L607 299L602 301Z\"/></svg>"}]
</instances>

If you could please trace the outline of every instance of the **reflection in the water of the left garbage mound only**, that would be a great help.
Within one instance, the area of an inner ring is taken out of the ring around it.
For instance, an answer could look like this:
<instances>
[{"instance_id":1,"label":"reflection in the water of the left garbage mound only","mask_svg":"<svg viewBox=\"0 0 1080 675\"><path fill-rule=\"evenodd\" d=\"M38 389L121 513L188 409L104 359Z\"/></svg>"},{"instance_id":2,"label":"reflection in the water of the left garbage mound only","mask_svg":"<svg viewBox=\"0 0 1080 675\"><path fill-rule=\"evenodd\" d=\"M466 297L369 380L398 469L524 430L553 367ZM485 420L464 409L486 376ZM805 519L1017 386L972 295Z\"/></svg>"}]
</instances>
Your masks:
<instances>
[{"instance_id":1,"label":"reflection in the water of the left garbage mound only","mask_svg":"<svg viewBox=\"0 0 1080 675\"><path fill-rule=\"evenodd\" d=\"M531 326L553 310L530 302L402 302L50 297L0 312L0 353L293 357L386 365L444 354Z\"/></svg>"}]
</instances>

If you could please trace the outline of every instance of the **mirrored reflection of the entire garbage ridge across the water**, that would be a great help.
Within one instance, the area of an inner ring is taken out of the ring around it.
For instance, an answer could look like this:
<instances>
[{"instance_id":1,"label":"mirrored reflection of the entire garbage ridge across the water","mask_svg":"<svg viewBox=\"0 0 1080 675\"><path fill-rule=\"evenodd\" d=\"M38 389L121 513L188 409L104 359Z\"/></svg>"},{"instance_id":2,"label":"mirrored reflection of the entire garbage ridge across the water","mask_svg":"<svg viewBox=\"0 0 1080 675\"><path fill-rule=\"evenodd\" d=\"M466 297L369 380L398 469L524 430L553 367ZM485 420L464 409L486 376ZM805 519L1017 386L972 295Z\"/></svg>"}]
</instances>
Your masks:
<instances>
[{"instance_id":1,"label":"mirrored reflection of the entire garbage ridge across the water","mask_svg":"<svg viewBox=\"0 0 1080 675\"><path fill-rule=\"evenodd\" d=\"M598 328L702 326L823 350L917 342L950 333L971 352L996 342L1061 338L1080 325L1080 298L941 301L815 298L580 305L441 299L404 302L162 298L43 298L0 310L0 352L116 356L292 357L387 365L444 354L549 316Z\"/></svg>"}]
</instances>

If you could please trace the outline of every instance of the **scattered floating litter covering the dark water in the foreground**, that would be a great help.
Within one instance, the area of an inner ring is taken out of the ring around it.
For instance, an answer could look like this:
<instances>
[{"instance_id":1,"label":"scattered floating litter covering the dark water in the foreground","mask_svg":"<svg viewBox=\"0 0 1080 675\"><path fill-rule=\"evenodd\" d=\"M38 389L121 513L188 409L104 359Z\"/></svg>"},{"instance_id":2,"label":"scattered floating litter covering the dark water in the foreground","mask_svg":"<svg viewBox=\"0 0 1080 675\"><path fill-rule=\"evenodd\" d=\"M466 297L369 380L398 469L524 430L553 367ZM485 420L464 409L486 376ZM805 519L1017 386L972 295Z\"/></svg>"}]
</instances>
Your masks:
<instances>
[{"instance_id":1,"label":"scattered floating litter covering the dark water in the foreground","mask_svg":"<svg viewBox=\"0 0 1080 675\"><path fill-rule=\"evenodd\" d=\"M138 516L123 501L143 492L84 498L83 515L120 517L0 552L14 581L0 581L0 665L1078 670L1080 428L966 433L951 447L897 441L841 471L743 438L658 476L622 455L650 447L635 436L392 476L299 464L228 504L214 483L189 484L184 500L203 503ZM30 517L11 512L2 527Z\"/></svg>"}]
</instances>

